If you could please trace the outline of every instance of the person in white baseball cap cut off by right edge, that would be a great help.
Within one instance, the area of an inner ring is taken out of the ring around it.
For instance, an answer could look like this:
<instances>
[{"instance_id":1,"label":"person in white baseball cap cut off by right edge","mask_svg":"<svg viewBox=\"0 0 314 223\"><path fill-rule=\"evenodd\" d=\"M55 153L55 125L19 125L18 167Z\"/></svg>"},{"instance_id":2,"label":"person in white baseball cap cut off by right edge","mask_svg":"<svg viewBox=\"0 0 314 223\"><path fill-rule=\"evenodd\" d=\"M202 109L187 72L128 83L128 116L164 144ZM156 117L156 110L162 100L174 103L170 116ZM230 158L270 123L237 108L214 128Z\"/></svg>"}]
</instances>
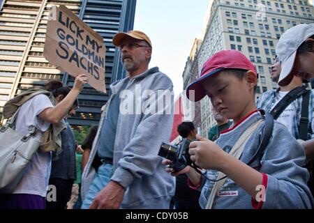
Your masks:
<instances>
[{"instance_id":1,"label":"person in white baseball cap cut off by right edge","mask_svg":"<svg viewBox=\"0 0 314 223\"><path fill-rule=\"evenodd\" d=\"M281 61L281 75L278 84L287 86L294 75L309 80L314 77L314 24L299 24L288 29L278 41L276 54ZM312 130L314 122L312 120ZM314 139L299 143L304 146L306 160L312 163L310 172L313 178ZM311 185L313 193L314 188Z\"/></svg>"}]
</instances>

